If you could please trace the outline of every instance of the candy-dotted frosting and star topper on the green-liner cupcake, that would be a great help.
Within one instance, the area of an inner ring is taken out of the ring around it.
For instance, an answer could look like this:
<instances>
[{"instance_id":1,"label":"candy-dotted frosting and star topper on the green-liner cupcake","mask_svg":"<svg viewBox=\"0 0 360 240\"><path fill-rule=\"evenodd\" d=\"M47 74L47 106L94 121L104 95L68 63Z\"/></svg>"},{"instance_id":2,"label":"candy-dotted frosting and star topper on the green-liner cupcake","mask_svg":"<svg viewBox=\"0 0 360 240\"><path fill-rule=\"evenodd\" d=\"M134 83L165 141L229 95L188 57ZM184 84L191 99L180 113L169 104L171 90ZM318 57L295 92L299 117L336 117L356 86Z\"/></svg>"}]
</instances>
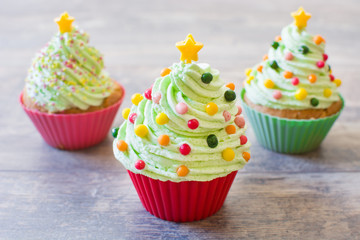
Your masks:
<instances>
[{"instance_id":1,"label":"candy-dotted frosting and star topper on the green-liner cupcake","mask_svg":"<svg viewBox=\"0 0 360 240\"><path fill-rule=\"evenodd\" d=\"M310 14L292 14L260 64L246 70L246 96L251 102L275 109L323 109L339 101L340 79L332 75L325 39L305 27Z\"/></svg>"}]
</instances>

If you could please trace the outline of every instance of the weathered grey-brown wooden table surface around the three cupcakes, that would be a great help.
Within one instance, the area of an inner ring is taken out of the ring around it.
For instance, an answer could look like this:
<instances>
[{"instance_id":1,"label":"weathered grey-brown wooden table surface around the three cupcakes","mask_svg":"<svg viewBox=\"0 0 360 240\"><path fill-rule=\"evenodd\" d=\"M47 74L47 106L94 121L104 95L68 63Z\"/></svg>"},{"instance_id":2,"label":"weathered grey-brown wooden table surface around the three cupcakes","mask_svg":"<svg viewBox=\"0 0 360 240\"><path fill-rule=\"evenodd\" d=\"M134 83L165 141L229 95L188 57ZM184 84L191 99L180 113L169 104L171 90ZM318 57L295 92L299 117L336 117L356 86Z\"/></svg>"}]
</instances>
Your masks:
<instances>
[{"instance_id":1,"label":"weathered grey-brown wooden table surface around the three cupcakes","mask_svg":"<svg viewBox=\"0 0 360 240\"><path fill-rule=\"evenodd\" d=\"M360 239L360 2L302 1L308 30L326 50L346 108L321 147L304 155L263 149L251 126L252 159L223 208L177 224L150 215L112 137L75 152L49 147L18 96L35 53L53 36L64 10L87 31L127 96L143 92L178 61L174 44L193 33L200 61L240 83L260 61L295 1L2 1L0 6L0 239ZM114 126L122 122L120 114Z\"/></svg>"}]
</instances>

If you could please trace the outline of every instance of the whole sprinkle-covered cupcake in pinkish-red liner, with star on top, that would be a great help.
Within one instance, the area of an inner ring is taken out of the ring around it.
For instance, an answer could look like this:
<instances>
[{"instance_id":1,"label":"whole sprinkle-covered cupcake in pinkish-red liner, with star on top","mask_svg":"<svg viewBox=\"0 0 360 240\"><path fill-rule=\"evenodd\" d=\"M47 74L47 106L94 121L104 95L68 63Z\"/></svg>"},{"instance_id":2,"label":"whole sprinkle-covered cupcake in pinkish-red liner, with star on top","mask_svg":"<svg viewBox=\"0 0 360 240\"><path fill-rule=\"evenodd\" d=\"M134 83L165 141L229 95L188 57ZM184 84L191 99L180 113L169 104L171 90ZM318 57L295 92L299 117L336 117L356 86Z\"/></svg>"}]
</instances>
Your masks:
<instances>
[{"instance_id":1,"label":"whole sprinkle-covered cupcake in pinkish-red liner, with star on top","mask_svg":"<svg viewBox=\"0 0 360 240\"><path fill-rule=\"evenodd\" d=\"M55 19L59 32L34 58L20 96L44 140L68 150L103 140L125 94L73 21L66 12Z\"/></svg>"}]
</instances>

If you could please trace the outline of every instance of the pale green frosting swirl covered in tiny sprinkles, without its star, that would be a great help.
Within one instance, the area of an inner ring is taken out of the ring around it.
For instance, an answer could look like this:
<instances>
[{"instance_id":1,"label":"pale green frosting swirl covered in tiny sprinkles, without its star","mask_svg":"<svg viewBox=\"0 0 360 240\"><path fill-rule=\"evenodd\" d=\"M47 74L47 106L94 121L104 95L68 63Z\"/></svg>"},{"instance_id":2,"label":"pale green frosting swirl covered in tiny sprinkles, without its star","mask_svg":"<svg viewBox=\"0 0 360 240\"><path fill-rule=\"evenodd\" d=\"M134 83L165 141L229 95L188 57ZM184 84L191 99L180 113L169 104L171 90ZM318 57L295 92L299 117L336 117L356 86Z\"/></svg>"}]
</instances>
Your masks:
<instances>
[{"instance_id":1,"label":"pale green frosting swirl covered in tiny sprinkles, without its star","mask_svg":"<svg viewBox=\"0 0 360 240\"><path fill-rule=\"evenodd\" d=\"M73 27L57 33L33 60L25 80L29 97L49 112L99 106L112 91L101 53L89 36Z\"/></svg>"}]
</instances>

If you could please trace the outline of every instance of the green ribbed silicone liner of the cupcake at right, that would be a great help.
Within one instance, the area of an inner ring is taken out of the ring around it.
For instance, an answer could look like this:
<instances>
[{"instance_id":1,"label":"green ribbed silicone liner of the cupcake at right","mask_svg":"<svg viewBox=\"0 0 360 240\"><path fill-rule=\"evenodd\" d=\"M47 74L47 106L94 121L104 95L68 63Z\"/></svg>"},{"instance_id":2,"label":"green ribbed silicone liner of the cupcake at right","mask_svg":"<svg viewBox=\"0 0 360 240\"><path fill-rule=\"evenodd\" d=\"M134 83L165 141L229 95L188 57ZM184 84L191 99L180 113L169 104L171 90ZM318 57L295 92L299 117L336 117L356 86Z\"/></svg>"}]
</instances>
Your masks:
<instances>
[{"instance_id":1,"label":"green ribbed silicone liner of the cupcake at right","mask_svg":"<svg viewBox=\"0 0 360 240\"><path fill-rule=\"evenodd\" d=\"M271 116L249 107L244 101L245 89L241 90L241 101L254 129L258 142L265 148L280 153L305 153L318 148L344 108L326 118L297 120Z\"/></svg>"}]
</instances>

